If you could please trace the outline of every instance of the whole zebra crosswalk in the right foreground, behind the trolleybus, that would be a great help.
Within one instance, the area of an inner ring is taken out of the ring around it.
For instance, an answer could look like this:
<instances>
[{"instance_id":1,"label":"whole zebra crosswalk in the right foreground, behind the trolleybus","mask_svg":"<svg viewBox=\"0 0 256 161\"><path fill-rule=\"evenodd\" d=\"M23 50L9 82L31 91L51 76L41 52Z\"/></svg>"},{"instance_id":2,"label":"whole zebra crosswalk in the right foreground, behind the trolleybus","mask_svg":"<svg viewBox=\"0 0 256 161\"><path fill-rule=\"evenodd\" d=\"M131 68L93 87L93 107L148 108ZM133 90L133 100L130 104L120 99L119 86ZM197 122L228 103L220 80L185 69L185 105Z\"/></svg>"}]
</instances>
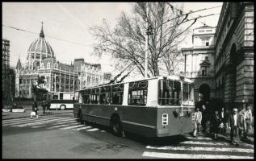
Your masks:
<instances>
[{"instance_id":1,"label":"whole zebra crosswalk in the right foreground, behind the trolleybus","mask_svg":"<svg viewBox=\"0 0 256 161\"><path fill-rule=\"evenodd\" d=\"M185 136L192 140L177 146L146 146L142 156L168 159L254 159L254 146L232 147L228 142L216 142L207 137Z\"/></svg>"}]
</instances>

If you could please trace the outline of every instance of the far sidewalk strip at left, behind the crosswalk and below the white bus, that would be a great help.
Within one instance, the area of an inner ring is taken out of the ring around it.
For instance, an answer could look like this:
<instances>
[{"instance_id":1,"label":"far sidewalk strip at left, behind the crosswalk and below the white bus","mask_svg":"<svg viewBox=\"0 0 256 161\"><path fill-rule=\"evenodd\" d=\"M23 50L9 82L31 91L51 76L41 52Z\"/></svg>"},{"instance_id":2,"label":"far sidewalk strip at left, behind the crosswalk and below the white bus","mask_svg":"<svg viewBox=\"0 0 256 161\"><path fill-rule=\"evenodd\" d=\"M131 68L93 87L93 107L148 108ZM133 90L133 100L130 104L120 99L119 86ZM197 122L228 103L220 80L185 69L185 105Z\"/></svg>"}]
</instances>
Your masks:
<instances>
[{"instance_id":1,"label":"far sidewalk strip at left, behind the crosswalk and below the white bus","mask_svg":"<svg viewBox=\"0 0 256 161\"><path fill-rule=\"evenodd\" d=\"M2 112L2 120L6 119L12 119L12 118L28 118L30 117L31 109L25 108L25 112L23 113L12 113L12 112L7 112L3 113ZM73 114L73 109L69 110L50 110L48 115L55 115L55 114ZM43 109L40 109L38 111L39 117L43 115Z\"/></svg>"}]
</instances>

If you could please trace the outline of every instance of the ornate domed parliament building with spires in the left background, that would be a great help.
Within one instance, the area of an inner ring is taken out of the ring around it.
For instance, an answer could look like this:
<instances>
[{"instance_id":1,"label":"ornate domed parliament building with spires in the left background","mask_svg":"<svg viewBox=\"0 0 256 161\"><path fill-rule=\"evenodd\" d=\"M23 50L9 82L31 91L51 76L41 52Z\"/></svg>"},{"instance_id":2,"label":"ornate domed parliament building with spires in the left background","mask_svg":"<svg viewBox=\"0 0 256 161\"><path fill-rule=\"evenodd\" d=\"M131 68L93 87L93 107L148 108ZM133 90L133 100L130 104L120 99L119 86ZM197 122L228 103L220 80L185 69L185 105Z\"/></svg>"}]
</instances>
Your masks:
<instances>
[{"instance_id":1,"label":"ornate domed parliament building with spires in the left background","mask_svg":"<svg viewBox=\"0 0 256 161\"><path fill-rule=\"evenodd\" d=\"M15 73L15 97L31 98L31 87L38 76L44 76L41 87L52 93L52 99L73 99L75 91L103 83L100 64L88 64L83 59L75 59L73 64L57 61L52 47L44 39L43 26L40 38L27 50L25 64L19 60Z\"/></svg>"}]
</instances>

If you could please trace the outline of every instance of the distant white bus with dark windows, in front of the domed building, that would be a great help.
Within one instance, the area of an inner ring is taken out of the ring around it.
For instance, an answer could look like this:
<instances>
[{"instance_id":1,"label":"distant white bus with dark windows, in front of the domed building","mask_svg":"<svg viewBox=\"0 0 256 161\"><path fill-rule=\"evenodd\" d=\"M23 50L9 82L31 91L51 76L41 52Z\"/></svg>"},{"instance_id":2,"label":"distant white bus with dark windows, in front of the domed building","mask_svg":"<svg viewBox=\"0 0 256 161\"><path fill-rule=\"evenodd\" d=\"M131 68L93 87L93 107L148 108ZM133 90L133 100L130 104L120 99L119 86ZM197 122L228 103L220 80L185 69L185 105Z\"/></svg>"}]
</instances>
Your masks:
<instances>
[{"instance_id":1,"label":"distant white bus with dark windows, in front of the domed building","mask_svg":"<svg viewBox=\"0 0 256 161\"><path fill-rule=\"evenodd\" d=\"M50 109L73 109L73 104L75 102L75 100L51 100Z\"/></svg>"}]
</instances>

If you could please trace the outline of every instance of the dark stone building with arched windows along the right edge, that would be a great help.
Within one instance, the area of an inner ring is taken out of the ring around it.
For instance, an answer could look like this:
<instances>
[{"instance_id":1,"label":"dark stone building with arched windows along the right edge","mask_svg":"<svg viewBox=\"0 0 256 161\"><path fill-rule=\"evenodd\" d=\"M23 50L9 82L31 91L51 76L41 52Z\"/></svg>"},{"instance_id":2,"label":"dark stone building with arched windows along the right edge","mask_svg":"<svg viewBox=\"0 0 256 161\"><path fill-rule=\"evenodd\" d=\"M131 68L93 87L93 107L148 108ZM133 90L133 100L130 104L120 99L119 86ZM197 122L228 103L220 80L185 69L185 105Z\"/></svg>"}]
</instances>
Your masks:
<instances>
[{"instance_id":1,"label":"dark stone building with arched windows along the right edge","mask_svg":"<svg viewBox=\"0 0 256 161\"><path fill-rule=\"evenodd\" d=\"M224 2L215 42L216 97L254 106L254 2Z\"/></svg>"}]
</instances>

